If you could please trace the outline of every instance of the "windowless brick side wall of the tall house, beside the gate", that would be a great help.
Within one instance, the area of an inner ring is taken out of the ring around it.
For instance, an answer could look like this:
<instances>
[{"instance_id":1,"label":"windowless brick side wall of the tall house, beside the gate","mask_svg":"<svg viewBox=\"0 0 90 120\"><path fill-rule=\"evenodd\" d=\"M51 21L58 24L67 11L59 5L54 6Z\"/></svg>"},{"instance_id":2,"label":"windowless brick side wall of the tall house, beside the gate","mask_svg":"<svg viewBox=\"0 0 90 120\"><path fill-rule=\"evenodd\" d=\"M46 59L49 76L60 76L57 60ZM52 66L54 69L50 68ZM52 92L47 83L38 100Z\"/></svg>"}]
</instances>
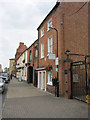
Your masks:
<instances>
[{"instance_id":1,"label":"windowless brick side wall of the tall house, beside the gate","mask_svg":"<svg viewBox=\"0 0 90 120\"><path fill-rule=\"evenodd\" d=\"M71 53L88 54L88 4L86 4L79 12L71 15L77 11L84 3L64 3L61 6L61 17L64 13L64 37L63 26L61 26L61 69L60 78L62 80L60 84L61 94L64 95L66 85L64 70L66 65L63 63L63 59L66 59L64 52L68 49ZM73 61L84 60L84 57L70 56ZM70 67L68 68L68 70Z\"/></svg>"}]
</instances>

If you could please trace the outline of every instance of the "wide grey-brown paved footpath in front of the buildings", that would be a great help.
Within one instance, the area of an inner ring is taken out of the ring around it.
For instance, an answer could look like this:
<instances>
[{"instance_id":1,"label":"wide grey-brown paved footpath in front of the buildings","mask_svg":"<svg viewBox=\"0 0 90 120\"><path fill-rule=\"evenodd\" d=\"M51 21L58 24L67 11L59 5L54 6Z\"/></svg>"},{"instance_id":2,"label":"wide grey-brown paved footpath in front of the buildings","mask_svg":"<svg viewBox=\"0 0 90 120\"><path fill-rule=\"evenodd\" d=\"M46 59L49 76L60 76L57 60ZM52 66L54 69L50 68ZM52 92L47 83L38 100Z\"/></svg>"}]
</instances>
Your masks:
<instances>
[{"instance_id":1,"label":"wide grey-brown paved footpath in front of the buildings","mask_svg":"<svg viewBox=\"0 0 90 120\"><path fill-rule=\"evenodd\" d=\"M3 106L3 118L88 118L88 105L55 97L13 78Z\"/></svg>"}]
</instances>

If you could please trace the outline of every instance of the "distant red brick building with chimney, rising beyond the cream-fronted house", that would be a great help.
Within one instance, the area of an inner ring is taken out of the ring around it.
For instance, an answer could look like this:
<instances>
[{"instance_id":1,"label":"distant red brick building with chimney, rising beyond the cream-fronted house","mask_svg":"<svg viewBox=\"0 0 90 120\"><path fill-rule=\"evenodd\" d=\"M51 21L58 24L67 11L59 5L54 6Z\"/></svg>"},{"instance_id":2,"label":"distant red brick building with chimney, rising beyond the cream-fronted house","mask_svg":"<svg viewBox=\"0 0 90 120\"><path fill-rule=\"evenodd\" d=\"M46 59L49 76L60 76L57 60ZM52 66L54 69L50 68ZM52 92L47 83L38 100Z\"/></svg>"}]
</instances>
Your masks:
<instances>
[{"instance_id":1,"label":"distant red brick building with chimney, rising beyond the cream-fronted house","mask_svg":"<svg viewBox=\"0 0 90 120\"><path fill-rule=\"evenodd\" d=\"M27 46L24 45L24 43L20 42L19 43L19 47L16 50L16 54L15 54L15 75L16 75L16 65L17 65L17 59L18 57L21 55L21 53L23 51L25 51L27 49Z\"/></svg>"}]
</instances>

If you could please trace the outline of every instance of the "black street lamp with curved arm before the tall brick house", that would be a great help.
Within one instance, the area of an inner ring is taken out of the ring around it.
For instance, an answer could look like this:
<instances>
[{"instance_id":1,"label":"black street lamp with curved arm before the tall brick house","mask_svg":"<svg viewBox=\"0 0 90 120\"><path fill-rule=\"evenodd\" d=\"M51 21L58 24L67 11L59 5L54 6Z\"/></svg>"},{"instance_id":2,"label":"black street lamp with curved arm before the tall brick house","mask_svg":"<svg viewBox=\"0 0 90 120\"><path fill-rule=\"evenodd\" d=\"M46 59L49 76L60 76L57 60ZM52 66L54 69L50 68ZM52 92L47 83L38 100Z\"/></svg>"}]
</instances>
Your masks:
<instances>
[{"instance_id":1,"label":"black street lamp with curved arm before the tall brick house","mask_svg":"<svg viewBox=\"0 0 90 120\"><path fill-rule=\"evenodd\" d=\"M56 31L56 39L57 39L57 59L58 59L58 30L53 27L49 27L50 29L54 29ZM59 80L58 80L58 64L57 64L57 97L59 97Z\"/></svg>"}]
</instances>

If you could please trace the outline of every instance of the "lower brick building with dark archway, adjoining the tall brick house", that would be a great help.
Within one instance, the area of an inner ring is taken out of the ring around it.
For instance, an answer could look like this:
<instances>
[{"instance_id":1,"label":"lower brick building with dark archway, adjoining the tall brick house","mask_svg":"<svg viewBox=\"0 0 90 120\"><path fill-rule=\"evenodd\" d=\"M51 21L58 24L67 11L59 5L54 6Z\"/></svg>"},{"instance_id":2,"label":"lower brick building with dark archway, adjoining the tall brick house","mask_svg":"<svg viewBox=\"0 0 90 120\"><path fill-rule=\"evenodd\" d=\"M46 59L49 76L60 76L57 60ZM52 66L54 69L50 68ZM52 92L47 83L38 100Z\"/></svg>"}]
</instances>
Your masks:
<instances>
[{"instance_id":1,"label":"lower brick building with dark archway, adjoining the tall brick house","mask_svg":"<svg viewBox=\"0 0 90 120\"><path fill-rule=\"evenodd\" d=\"M27 82L37 87L38 40L27 49Z\"/></svg>"}]
</instances>

